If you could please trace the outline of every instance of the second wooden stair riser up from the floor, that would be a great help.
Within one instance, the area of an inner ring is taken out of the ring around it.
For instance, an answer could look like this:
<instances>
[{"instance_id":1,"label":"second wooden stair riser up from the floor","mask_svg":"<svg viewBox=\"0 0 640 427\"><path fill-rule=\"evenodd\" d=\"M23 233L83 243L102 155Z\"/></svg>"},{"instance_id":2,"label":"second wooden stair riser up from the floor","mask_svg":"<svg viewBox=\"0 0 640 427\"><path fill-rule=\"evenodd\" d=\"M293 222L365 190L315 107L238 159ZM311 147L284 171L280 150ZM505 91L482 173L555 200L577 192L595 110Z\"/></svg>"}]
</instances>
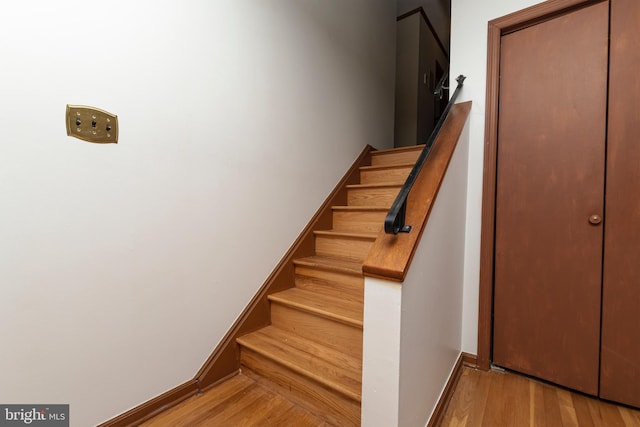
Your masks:
<instances>
[{"instance_id":1,"label":"second wooden stair riser up from the floor","mask_svg":"<svg viewBox=\"0 0 640 427\"><path fill-rule=\"evenodd\" d=\"M271 303L271 324L362 359L362 328L327 319L277 302Z\"/></svg>"}]
</instances>

